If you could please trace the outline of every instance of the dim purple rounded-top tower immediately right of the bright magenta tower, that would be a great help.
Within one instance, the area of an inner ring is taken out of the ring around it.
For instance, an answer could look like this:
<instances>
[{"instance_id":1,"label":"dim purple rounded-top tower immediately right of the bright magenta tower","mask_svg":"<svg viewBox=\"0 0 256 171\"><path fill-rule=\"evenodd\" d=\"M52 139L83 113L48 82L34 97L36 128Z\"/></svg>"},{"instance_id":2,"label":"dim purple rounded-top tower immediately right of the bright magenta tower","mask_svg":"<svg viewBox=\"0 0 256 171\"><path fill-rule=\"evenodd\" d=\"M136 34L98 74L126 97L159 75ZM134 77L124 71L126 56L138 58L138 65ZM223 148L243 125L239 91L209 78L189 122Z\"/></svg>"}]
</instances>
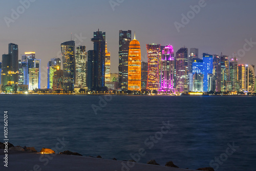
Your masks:
<instances>
[{"instance_id":1,"label":"dim purple rounded-top tower immediately right of the bright magenta tower","mask_svg":"<svg viewBox=\"0 0 256 171\"><path fill-rule=\"evenodd\" d=\"M188 87L188 59L187 48L180 48L176 52L176 91L186 92Z\"/></svg>"}]
</instances>

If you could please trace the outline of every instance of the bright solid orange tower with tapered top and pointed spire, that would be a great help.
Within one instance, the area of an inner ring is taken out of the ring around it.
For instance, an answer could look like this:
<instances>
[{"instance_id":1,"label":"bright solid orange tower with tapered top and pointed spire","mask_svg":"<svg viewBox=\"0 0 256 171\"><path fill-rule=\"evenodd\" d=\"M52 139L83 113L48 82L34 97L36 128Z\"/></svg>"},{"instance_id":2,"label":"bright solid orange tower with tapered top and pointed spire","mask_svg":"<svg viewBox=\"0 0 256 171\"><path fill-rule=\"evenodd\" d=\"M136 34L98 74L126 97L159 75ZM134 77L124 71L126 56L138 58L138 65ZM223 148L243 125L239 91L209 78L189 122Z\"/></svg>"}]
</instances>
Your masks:
<instances>
[{"instance_id":1,"label":"bright solid orange tower with tapered top and pointed spire","mask_svg":"<svg viewBox=\"0 0 256 171\"><path fill-rule=\"evenodd\" d=\"M141 91L141 52L140 42L134 39L130 42L128 58L128 90Z\"/></svg>"}]
</instances>

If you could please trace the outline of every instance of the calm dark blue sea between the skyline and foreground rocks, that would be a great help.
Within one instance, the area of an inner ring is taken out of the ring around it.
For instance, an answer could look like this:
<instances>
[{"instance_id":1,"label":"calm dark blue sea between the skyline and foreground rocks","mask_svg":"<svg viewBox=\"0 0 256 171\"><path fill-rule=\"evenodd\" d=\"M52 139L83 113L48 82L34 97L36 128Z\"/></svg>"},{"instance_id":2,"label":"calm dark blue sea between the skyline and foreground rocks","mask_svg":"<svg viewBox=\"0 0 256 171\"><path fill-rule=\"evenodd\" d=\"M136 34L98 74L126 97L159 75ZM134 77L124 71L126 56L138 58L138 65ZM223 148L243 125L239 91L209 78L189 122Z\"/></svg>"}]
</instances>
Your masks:
<instances>
[{"instance_id":1,"label":"calm dark blue sea between the skyline and foreground rocks","mask_svg":"<svg viewBox=\"0 0 256 171\"><path fill-rule=\"evenodd\" d=\"M102 98L108 102L95 115L92 104ZM62 151L83 156L130 160L144 148L141 163L155 159L197 169L214 160L218 170L256 170L255 104L256 97L231 96L0 95L14 145L40 151L64 137L69 143ZM163 122L172 127L161 137ZM158 140L148 140L155 135ZM235 146L229 155L228 143Z\"/></svg>"}]
</instances>

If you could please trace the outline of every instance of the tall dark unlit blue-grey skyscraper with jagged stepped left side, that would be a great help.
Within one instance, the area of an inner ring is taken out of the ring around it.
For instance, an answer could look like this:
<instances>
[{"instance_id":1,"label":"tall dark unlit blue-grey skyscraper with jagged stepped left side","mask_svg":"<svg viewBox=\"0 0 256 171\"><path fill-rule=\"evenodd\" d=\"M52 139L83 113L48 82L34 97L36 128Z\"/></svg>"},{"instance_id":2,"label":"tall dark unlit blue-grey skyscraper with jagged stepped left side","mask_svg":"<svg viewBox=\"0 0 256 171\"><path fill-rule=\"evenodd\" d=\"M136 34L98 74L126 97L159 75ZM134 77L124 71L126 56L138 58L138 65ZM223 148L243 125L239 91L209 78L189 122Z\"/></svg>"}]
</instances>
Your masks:
<instances>
[{"instance_id":1,"label":"tall dark unlit blue-grey skyscraper with jagged stepped left side","mask_svg":"<svg viewBox=\"0 0 256 171\"><path fill-rule=\"evenodd\" d=\"M105 32L94 32L94 71L91 90L102 90L105 86ZM89 59L89 58L88 58Z\"/></svg>"}]
</instances>

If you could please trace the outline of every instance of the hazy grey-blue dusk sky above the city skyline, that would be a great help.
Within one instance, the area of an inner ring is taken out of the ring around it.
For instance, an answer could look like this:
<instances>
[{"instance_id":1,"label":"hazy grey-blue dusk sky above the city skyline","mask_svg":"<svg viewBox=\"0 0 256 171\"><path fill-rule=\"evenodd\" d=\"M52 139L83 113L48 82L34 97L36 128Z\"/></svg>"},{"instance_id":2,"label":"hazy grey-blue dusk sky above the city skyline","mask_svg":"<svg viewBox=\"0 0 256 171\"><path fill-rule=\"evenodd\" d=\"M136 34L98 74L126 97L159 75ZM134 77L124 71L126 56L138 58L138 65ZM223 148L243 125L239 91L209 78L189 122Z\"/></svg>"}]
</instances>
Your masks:
<instances>
[{"instance_id":1,"label":"hazy grey-blue dusk sky above the city skyline","mask_svg":"<svg viewBox=\"0 0 256 171\"><path fill-rule=\"evenodd\" d=\"M199 0L113 0L121 2L115 7L109 0L33 1L9 23L10 27L5 19L12 19L12 9L22 10L22 4L18 0L1 1L0 53L8 53L10 42L18 45L19 59L26 51L36 52L36 58L41 59L41 87L47 86L47 62L61 58L60 44L69 41L73 33L76 45L92 50L91 38L98 29L106 32L111 73L118 72L119 30L136 31L142 61L147 61L146 44L155 43L171 44L175 53L184 46L199 48L201 57L204 52L228 56L240 52L239 63L256 65L255 0L208 0L198 14L189 11ZM183 23L178 32L174 23L182 24L182 14L187 13L195 15L189 16L189 23ZM245 45L245 39L255 43Z\"/></svg>"}]
</instances>

